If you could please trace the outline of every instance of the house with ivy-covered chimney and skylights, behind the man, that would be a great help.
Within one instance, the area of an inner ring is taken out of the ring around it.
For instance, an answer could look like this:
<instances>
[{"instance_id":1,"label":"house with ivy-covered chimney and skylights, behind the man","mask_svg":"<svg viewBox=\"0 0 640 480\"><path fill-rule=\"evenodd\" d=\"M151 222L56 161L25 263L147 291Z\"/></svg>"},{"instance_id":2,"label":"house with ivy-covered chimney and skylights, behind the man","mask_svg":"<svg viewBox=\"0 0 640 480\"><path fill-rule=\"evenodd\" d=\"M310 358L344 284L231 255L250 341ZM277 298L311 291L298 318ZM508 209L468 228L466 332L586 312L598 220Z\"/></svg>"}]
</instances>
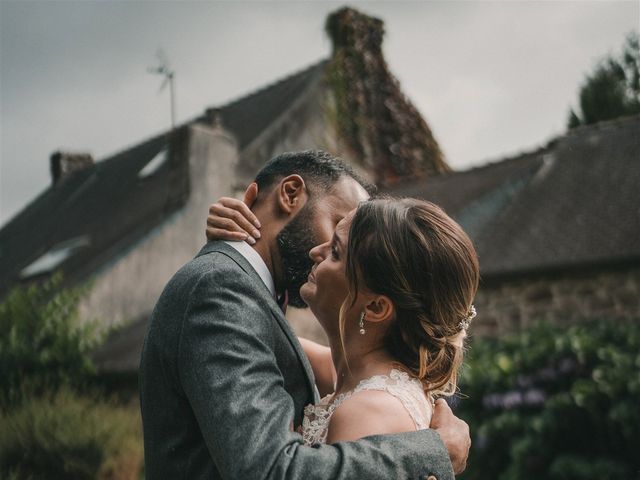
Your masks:
<instances>
[{"instance_id":1,"label":"house with ivy-covered chimney and skylights, behind the man","mask_svg":"<svg viewBox=\"0 0 640 480\"><path fill-rule=\"evenodd\" d=\"M0 230L0 297L56 271L89 282L81 316L125 326L106 365L130 368L164 285L205 241L209 204L244 191L272 156L331 151L386 186L450 171L387 68L382 22L345 8L327 32L329 59L172 131L98 162L52 154L49 188Z\"/></svg>"}]
</instances>

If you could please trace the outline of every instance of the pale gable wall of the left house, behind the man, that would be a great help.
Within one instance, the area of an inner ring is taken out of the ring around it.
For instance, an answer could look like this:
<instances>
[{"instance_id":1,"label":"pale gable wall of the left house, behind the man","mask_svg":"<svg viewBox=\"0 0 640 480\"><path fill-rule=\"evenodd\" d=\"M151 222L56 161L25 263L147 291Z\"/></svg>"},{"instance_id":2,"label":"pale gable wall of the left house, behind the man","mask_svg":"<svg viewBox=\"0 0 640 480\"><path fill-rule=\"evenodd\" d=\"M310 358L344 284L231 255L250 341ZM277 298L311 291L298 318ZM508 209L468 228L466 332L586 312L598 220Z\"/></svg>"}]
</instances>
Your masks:
<instances>
[{"instance_id":1,"label":"pale gable wall of the left house, behind the man","mask_svg":"<svg viewBox=\"0 0 640 480\"><path fill-rule=\"evenodd\" d=\"M340 154L336 132L326 121L326 90L321 80L319 77L305 95L242 152L223 129L224 118L222 127L188 127L188 146L183 149L190 169L187 204L96 272L90 279L92 290L80 305L82 318L99 318L106 325L113 325L148 316L166 282L204 244L209 205L221 196L241 195L274 155L306 149ZM302 313L303 320L298 320L300 315L295 313L293 317L303 334L323 339L312 315Z\"/></svg>"}]
</instances>

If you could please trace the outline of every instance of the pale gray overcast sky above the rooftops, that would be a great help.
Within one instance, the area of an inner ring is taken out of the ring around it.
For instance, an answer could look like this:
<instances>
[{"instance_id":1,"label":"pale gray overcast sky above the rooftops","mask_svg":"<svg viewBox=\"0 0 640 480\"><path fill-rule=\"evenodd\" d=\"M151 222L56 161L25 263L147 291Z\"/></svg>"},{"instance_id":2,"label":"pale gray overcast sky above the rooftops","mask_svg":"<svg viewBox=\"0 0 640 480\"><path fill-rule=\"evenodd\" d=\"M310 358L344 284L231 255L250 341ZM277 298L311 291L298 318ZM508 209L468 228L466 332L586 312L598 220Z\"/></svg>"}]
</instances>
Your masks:
<instances>
[{"instance_id":1,"label":"pale gray overcast sky above the rooftops","mask_svg":"<svg viewBox=\"0 0 640 480\"><path fill-rule=\"evenodd\" d=\"M343 5L0 0L0 225L47 188L54 150L100 160L169 126L146 71L158 47L181 122L328 57ZM349 5L384 20L390 68L455 169L562 134L585 74L640 23L638 0Z\"/></svg>"}]
</instances>

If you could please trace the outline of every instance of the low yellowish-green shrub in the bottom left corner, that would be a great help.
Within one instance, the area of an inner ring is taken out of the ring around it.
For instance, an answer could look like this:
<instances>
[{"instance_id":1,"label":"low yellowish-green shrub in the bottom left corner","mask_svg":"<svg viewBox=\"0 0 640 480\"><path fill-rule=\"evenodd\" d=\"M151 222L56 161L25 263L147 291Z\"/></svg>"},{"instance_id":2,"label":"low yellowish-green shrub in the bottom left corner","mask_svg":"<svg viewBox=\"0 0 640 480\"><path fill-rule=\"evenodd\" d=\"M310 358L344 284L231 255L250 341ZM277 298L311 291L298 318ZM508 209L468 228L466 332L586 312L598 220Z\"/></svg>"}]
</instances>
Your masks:
<instances>
[{"instance_id":1,"label":"low yellowish-green shrub in the bottom left corner","mask_svg":"<svg viewBox=\"0 0 640 480\"><path fill-rule=\"evenodd\" d=\"M119 406L61 390L0 416L0 477L138 479L137 404Z\"/></svg>"}]
</instances>

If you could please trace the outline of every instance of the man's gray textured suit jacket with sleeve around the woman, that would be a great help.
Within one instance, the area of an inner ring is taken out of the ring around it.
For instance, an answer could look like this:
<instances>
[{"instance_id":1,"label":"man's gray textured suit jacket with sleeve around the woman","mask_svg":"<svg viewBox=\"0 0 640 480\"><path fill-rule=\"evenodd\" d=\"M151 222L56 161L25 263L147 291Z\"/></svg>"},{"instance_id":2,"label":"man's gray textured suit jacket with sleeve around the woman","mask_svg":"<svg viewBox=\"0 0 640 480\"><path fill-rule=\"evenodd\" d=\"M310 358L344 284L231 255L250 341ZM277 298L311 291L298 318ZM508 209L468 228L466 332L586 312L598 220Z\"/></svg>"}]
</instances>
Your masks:
<instances>
[{"instance_id":1,"label":"man's gray textured suit jacket with sleeve around the woman","mask_svg":"<svg viewBox=\"0 0 640 480\"><path fill-rule=\"evenodd\" d=\"M453 478L432 430L304 447L291 427L315 392L302 347L258 274L224 242L205 245L165 287L145 338L146 478Z\"/></svg>"}]
</instances>

